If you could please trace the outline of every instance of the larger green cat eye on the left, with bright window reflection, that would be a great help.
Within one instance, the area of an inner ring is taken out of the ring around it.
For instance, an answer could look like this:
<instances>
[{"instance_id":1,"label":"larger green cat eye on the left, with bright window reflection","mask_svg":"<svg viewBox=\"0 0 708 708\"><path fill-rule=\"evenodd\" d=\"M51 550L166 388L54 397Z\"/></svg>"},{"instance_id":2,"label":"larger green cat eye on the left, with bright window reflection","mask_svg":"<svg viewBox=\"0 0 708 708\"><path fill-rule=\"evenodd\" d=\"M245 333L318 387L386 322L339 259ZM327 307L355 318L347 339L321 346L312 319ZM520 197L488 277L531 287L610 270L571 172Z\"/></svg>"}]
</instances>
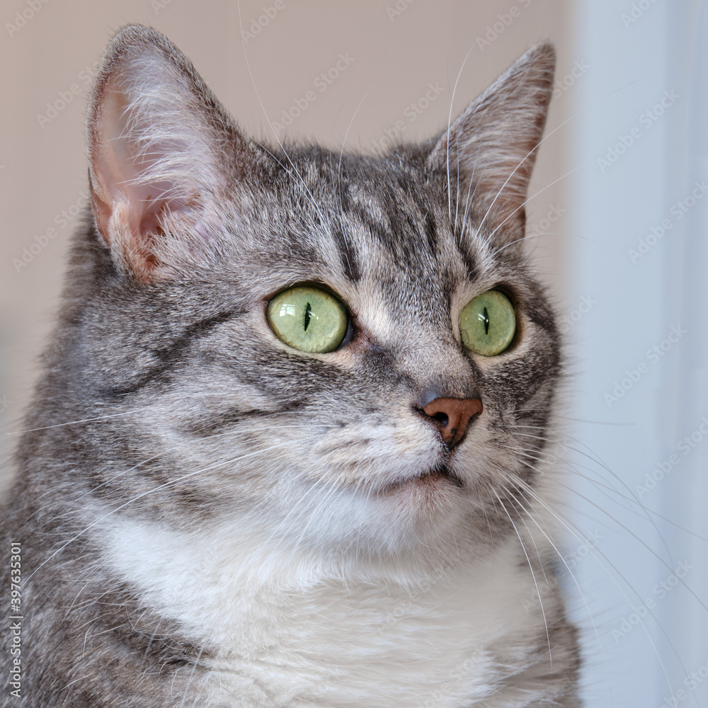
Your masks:
<instances>
[{"instance_id":1,"label":"larger green cat eye on the left, with bright window reflection","mask_svg":"<svg viewBox=\"0 0 708 708\"><path fill-rule=\"evenodd\" d=\"M344 305L329 292L307 285L275 295L268 303L268 322L288 346L319 354L336 349L348 328Z\"/></svg>"}]
</instances>

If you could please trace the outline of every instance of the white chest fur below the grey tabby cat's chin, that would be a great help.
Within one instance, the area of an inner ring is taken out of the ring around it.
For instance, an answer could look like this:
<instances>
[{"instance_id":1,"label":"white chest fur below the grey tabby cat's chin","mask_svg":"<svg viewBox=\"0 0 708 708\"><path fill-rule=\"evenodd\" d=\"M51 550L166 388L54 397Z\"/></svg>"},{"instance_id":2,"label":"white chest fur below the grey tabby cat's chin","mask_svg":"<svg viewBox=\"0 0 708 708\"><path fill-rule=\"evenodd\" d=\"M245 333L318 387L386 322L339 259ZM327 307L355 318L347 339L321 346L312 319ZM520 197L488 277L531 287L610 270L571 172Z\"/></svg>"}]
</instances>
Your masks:
<instances>
[{"instance_id":1,"label":"white chest fur below the grey tabby cat's chin","mask_svg":"<svg viewBox=\"0 0 708 708\"><path fill-rule=\"evenodd\" d=\"M520 637L543 622L527 612L535 586L518 539L412 587L337 579L224 530L195 537L117 520L109 531L110 566L210 648L207 681L193 686L200 706L474 705L509 673L500 655L523 653Z\"/></svg>"}]
</instances>

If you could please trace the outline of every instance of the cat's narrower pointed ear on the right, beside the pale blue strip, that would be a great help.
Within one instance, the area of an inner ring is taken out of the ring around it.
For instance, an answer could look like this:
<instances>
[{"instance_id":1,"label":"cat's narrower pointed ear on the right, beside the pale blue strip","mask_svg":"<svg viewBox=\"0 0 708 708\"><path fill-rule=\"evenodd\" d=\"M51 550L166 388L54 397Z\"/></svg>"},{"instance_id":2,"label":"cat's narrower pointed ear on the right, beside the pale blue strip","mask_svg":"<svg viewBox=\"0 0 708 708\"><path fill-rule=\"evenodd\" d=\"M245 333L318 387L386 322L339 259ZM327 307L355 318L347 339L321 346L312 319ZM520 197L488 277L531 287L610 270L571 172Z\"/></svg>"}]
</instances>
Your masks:
<instances>
[{"instance_id":1,"label":"cat's narrower pointed ear on the right, beside the pale blue strip","mask_svg":"<svg viewBox=\"0 0 708 708\"><path fill-rule=\"evenodd\" d=\"M484 229L496 231L499 242L524 235L523 205L555 64L552 45L532 47L464 110L428 158L429 166L445 176L457 213L464 213L471 200Z\"/></svg>"}]
</instances>

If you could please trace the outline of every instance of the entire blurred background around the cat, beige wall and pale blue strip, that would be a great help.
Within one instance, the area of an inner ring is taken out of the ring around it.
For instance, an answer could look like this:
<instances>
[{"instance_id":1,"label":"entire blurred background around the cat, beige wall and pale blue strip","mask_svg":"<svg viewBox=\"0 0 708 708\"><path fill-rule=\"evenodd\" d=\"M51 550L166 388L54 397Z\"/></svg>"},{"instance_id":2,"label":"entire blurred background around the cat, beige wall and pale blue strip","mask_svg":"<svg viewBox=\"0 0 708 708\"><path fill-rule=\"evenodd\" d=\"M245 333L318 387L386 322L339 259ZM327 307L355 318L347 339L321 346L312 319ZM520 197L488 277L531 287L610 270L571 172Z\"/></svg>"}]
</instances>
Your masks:
<instances>
[{"instance_id":1,"label":"entire blurred background around the cat, beige wall and pale blue strip","mask_svg":"<svg viewBox=\"0 0 708 708\"><path fill-rule=\"evenodd\" d=\"M568 344L561 576L586 705L708 705L704 4L4 0L0 20L6 485L86 199L86 92L120 25L166 33L253 137L365 152L435 135L552 40L527 236Z\"/></svg>"}]
</instances>

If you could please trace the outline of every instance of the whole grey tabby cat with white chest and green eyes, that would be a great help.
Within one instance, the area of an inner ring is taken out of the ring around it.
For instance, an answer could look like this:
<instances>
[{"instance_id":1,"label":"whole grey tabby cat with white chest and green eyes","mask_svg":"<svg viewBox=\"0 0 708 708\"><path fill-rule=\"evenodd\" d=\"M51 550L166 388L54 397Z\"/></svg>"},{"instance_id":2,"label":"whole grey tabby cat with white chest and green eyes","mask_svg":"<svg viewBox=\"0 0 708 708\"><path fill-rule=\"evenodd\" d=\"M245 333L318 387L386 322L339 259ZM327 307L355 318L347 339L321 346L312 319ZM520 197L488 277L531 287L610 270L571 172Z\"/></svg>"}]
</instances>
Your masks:
<instances>
[{"instance_id":1,"label":"whole grey tabby cat with white chest and green eyes","mask_svg":"<svg viewBox=\"0 0 708 708\"><path fill-rule=\"evenodd\" d=\"M529 602L558 560L521 243L553 71L532 48L385 156L270 150L169 40L115 36L2 519L2 705L578 705L561 598Z\"/></svg>"}]
</instances>

